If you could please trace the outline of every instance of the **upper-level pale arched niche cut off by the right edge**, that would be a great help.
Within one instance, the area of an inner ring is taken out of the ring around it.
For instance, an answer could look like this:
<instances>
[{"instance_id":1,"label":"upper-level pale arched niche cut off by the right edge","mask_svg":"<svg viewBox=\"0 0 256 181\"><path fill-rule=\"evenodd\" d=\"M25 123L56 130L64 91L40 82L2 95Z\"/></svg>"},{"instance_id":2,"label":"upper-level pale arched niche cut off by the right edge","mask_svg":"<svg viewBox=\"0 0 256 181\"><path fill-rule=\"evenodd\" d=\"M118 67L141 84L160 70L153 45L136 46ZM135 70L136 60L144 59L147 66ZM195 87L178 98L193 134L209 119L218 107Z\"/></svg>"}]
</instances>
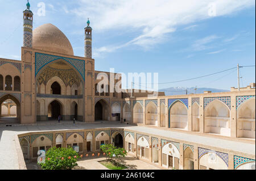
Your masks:
<instances>
[{"instance_id":1,"label":"upper-level pale arched niche cut off by the right edge","mask_svg":"<svg viewBox=\"0 0 256 181\"><path fill-rule=\"evenodd\" d=\"M255 139L255 98L246 100L237 109L237 137Z\"/></svg>"}]
</instances>

